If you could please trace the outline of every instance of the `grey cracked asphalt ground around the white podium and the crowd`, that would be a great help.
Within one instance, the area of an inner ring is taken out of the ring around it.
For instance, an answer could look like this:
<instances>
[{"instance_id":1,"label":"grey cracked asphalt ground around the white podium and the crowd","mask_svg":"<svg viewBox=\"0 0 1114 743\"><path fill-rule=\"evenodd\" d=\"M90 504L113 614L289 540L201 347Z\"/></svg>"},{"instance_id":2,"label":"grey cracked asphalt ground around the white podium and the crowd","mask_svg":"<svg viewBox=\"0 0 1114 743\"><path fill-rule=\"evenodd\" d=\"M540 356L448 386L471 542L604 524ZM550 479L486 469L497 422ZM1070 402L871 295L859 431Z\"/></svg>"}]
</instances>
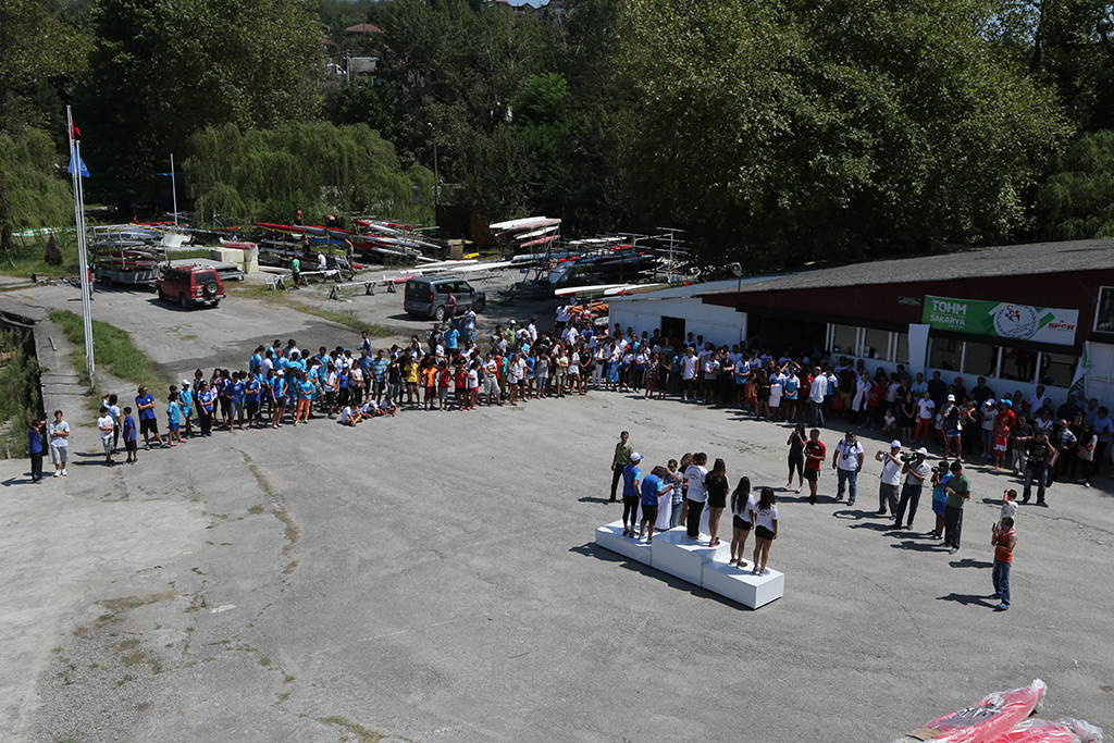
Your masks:
<instances>
[{"instance_id":1,"label":"grey cracked asphalt ground around the white podium and the crowd","mask_svg":"<svg viewBox=\"0 0 1114 743\"><path fill-rule=\"evenodd\" d=\"M0 309L76 294L11 292ZM361 316L390 316L364 299ZM238 297L183 313L114 292L94 311L167 377L245 363L263 339L358 342ZM927 502L912 532L872 516L872 459L853 509L832 502L825 469L815 506L779 491L770 565L785 595L752 612L595 547L595 527L622 515L606 502L620 429L648 467L703 450L732 481L784 485L786 427L604 392L218 432L113 469L80 429L70 476L40 486L23 483L26 462L0 461L0 659L20 669L0 682L0 730L82 743L889 741L1035 677L1049 686L1043 716L1114 725L1114 480L1022 507L1013 607L997 613L989 527L1014 478L970 468L951 556L924 536Z\"/></svg>"}]
</instances>

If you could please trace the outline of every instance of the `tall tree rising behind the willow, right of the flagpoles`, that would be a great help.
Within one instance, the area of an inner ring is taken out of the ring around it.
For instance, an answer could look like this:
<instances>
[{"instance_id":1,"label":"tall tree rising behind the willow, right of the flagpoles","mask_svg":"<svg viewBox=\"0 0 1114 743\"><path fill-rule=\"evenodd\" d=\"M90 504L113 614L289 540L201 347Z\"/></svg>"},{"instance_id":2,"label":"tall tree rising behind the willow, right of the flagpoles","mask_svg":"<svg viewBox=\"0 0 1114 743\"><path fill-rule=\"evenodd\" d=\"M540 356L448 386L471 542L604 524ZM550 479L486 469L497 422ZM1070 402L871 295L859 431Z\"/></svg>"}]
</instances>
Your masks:
<instances>
[{"instance_id":1,"label":"tall tree rising behind the willow, right of the flagpoles","mask_svg":"<svg viewBox=\"0 0 1114 743\"><path fill-rule=\"evenodd\" d=\"M143 194L172 153L209 126L314 116L322 74L315 13L295 0L98 0L79 126L110 196Z\"/></svg>"}]
</instances>

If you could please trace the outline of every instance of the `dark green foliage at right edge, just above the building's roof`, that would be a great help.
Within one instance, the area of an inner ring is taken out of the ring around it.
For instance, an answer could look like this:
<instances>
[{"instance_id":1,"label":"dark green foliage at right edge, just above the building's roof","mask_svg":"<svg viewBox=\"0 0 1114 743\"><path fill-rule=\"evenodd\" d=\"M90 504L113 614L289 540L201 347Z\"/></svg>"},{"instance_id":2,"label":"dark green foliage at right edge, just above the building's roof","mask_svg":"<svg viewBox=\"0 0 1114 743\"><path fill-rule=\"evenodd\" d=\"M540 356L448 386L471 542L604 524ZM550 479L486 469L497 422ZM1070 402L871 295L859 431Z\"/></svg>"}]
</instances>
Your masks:
<instances>
[{"instance_id":1,"label":"dark green foliage at right edge, just above the building's roof","mask_svg":"<svg viewBox=\"0 0 1114 743\"><path fill-rule=\"evenodd\" d=\"M1040 237L1114 237L1114 130L1082 136L1051 172L1036 199Z\"/></svg>"}]
</instances>

